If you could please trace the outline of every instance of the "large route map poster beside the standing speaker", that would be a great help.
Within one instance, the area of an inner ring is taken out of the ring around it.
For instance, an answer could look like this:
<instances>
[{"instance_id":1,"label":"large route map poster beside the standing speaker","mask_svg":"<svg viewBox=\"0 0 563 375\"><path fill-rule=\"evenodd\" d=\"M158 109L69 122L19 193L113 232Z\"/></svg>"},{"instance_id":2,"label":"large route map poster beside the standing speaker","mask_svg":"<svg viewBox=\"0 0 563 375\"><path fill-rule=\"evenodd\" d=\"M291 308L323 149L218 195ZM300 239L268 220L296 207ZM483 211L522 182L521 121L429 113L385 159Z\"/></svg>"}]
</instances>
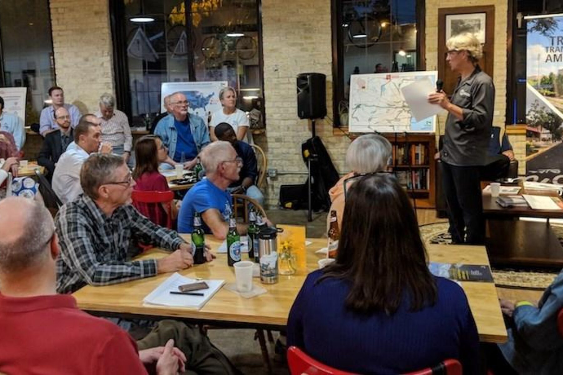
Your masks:
<instances>
[{"instance_id":1,"label":"large route map poster beside the standing speaker","mask_svg":"<svg viewBox=\"0 0 563 375\"><path fill-rule=\"evenodd\" d=\"M417 121L401 88L417 80L435 83L437 71L353 74L350 79L350 133L435 133L436 116Z\"/></svg>"}]
</instances>

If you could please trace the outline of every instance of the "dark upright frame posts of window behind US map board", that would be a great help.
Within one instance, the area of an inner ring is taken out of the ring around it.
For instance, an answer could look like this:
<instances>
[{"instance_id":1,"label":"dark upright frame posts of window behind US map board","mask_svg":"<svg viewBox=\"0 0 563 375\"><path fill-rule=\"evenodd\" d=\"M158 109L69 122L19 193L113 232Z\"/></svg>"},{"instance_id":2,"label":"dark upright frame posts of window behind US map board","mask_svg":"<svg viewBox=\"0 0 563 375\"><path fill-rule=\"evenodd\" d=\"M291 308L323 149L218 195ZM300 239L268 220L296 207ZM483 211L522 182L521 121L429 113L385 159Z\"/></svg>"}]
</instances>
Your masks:
<instances>
[{"instance_id":1,"label":"dark upright frame posts of window behind US map board","mask_svg":"<svg viewBox=\"0 0 563 375\"><path fill-rule=\"evenodd\" d=\"M191 0L185 0L186 9L186 35L191 35ZM258 66L260 69L260 93L262 101L262 116L266 124L265 98L264 98L264 58L262 48L262 1L256 0L257 33L258 43ZM119 110L123 111L129 119L132 118L131 92L129 82L129 66L127 58L127 33L125 20L125 4L123 0L109 0L111 47L113 50L113 71L115 84L115 101ZM191 43L187 43L187 71L189 82L197 82L195 79L195 49ZM161 99L162 100L162 99Z\"/></svg>"}]
</instances>

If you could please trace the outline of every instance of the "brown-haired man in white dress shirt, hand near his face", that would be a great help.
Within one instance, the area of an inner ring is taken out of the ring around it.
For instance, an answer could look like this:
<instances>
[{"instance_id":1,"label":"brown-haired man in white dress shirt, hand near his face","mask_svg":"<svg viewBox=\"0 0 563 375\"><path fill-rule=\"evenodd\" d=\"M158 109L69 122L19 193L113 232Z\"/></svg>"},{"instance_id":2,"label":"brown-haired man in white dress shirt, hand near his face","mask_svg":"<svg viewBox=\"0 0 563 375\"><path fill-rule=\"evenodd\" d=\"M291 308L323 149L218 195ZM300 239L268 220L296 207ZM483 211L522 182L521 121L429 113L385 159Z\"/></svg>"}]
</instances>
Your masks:
<instances>
[{"instance_id":1,"label":"brown-haired man in white dress shirt, hand near his face","mask_svg":"<svg viewBox=\"0 0 563 375\"><path fill-rule=\"evenodd\" d=\"M53 171L52 188L62 203L72 202L82 194L80 169L88 155L100 148L100 132L100 125L86 119L74 129L74 143L69 144ZM111 146L102 144L100 151L111 152Z\"/></svg>"}]
</instances>

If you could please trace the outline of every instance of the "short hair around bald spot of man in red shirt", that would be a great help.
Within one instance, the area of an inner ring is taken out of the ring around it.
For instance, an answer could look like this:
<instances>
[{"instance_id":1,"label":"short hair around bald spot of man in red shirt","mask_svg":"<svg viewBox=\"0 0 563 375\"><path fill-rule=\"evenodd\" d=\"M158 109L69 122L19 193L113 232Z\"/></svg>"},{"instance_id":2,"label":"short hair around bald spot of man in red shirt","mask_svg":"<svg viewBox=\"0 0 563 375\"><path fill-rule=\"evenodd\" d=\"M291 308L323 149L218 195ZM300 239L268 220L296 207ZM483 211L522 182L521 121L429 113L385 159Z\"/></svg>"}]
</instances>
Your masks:
<instances>
[{"instance_id":1,"label":"short hair around bald spot of man in red shirt","mask_svg":"<svg viewBox=\"0 0 563 375\"><path fill-rule=\"evenodd\" d=\"M21 197L4 200L5 204L17 204L25 210L21 236L9 242L6 238L0 238L0 272L4 274L32 269L50 256L46 247L55 232L51 213L40 202L24 200L26 198Z\"/></svg>"}]
</instances>

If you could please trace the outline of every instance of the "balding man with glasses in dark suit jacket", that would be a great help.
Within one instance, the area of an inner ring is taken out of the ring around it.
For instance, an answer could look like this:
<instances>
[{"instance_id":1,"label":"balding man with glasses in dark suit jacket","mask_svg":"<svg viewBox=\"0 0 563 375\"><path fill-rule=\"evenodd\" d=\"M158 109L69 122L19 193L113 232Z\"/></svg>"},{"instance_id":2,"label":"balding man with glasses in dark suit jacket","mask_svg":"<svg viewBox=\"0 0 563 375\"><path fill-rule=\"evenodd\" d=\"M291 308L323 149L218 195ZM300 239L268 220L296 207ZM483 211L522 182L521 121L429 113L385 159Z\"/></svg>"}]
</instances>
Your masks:
<instances>
[{"instance_id":1,"label":"balding man with glasses in dark suit jacket","mask_svg":"<svg viewBox=\"0 0 563 375\"><path fill-rule=\"evenodd\" d=\"M66 151L66 147L73 141L73 129L70 127L70 114L60 107L55 111L55 122L60 129L45 135L37 162L47 169L47 178L51 180L55 164L59 157Z\"/></svg>"}]
</instances>

